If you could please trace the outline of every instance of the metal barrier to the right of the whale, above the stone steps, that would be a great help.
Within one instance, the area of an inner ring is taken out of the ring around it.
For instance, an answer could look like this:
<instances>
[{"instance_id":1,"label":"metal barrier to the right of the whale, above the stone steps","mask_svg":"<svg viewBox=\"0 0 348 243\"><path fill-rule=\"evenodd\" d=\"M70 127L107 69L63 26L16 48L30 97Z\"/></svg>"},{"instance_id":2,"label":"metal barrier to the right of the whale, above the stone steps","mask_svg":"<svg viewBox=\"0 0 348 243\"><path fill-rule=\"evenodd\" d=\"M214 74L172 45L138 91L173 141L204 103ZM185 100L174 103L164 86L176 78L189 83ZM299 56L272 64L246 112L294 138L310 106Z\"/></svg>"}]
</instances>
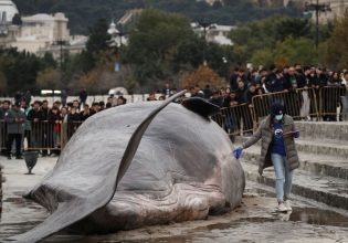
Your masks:
<instances>
[{"instance_id":1,"label":"metal barrier to the right of the whale, above the stone steps","mask_svg":"<svg viewBox=\"0 0 348 243\"><path fill-rule=\"evenodd\" d=\"M348 96L346 87L326 86L321 88L297 88L294 91L256 95L252 104L242 104L212 117L228 134L243 135L253 131L270 114L271 105L281 102L286 114L294 119L347 120Z\"/></svg>"}]
</instances>

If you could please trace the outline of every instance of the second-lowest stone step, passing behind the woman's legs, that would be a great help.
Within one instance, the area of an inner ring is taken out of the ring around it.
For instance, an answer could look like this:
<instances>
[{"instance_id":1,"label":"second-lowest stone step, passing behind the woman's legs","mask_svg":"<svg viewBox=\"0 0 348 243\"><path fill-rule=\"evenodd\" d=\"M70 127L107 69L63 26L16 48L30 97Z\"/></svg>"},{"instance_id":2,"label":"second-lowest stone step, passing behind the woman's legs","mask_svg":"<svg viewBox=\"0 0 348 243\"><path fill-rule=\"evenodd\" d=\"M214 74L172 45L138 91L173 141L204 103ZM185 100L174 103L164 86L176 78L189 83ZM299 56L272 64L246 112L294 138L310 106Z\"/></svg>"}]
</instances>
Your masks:
<instances>
[{"instance_id":1,"label":"second-lowest stone step, passing behind the woman's legs","mask_svg":"<svg viewBox=\"0 0 348 243\"><path fill-rule=\"evenodd\" d=\"M243 160L257 163L261 147L254 145L243 151ZM315 176L328 176L348 180L348 159L298 151L302 170Z\"/></svg>"}]
</instances>

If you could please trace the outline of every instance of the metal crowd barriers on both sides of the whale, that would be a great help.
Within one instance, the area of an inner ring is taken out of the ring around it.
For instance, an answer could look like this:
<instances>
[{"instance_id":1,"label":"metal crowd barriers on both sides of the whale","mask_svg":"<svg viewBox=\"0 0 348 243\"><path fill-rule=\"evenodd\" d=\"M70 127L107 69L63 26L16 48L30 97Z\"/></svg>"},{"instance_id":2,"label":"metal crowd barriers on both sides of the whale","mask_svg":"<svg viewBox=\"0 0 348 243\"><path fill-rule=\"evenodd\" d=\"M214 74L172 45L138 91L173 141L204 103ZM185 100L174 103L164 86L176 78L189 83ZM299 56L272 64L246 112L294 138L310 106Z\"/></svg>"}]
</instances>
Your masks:
<instances>
[{"instance_id":1,"label":"metal crowd barriers on both sides of the whale","mask_svg":"<svg viewBox=\"0 0 348 243\"><path fill-rule=\"evenodd\" d=\"M296 91L256 95L252 104L241 104L222 108L212 117L229 135L252 133L260 122L270 114L274 102L283 102L286 113L295 119L317 120L348 119L348 96L345 87L327 86L319 89L298 88ZM27 122L23 133L23 149L54 151L61 150L83 122ZM7 148L7 123L0 120L0 147Z\"/></svg>"}]
</instances>

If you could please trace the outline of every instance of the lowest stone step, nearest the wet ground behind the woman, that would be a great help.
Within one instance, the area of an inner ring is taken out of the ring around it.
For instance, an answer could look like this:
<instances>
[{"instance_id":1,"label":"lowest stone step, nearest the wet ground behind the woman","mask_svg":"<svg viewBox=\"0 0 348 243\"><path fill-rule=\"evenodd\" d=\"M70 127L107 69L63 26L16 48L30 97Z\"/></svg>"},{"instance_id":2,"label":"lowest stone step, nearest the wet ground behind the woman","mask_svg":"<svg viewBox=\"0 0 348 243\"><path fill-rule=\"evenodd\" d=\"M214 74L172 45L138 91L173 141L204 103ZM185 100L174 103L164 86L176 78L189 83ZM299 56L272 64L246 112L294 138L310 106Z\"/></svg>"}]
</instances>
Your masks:
<instances>
[{"instance_id":1,"label":"lowest stone step, nearest the wet ground behind the woman","mask_svg":"<svg viewBox=\"0 0 348 243\"><path fill-rule=\"evenodd\" d=\"M265 169L261 177L256 165L245 162L245 160L241 162L247 180L275 187L273 168ZM330 207L348 210L348 181L345 179L327 176L318 177L298 169L294 172L292 192Z\"/></svg>"}]
</instances>

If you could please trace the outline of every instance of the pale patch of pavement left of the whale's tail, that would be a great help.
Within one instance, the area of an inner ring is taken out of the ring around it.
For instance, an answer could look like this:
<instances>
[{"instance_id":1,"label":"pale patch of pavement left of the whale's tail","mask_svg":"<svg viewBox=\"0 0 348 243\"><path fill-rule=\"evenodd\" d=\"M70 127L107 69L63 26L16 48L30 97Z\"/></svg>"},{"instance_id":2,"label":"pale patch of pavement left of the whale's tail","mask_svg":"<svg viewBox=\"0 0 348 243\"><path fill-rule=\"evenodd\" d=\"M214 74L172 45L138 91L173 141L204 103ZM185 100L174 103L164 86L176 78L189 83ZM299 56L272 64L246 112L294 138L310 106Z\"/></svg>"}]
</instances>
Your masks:
<instances>
[{"instance_id":1,"label":"pale patch of pavement left of the whale's tail","mask_svg":"<svg viewBox=\"0 0 348 243\"><path fill-rule=\"evenodd\" d=\"M49 214L46 211L22 198L32 189L55 165L56 158L39 158L32 176L28 172L24 160L8 160L0 157L3 166L6 182L3 188L2 214L0 222L0 235L12 235L23 229L24 231L42 222ZM0 236L0 241L1 241Z\"/></svg>"}]
</instances>

